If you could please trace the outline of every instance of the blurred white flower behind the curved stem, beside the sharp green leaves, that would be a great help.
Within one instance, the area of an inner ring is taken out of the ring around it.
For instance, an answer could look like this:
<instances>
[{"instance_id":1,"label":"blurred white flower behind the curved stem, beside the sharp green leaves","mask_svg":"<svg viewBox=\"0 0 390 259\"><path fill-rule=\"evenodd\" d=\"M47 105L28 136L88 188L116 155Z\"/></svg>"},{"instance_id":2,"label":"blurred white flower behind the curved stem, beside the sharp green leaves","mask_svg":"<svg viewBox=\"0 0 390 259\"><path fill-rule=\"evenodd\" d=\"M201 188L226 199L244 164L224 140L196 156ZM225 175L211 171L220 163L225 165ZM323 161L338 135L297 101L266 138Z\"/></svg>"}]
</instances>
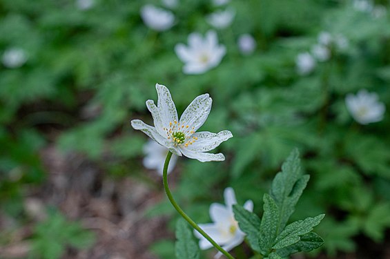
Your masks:
<instances>
[{"instance_id":1,"label":"blurred white flower behind the curved stem, beside the sharp green leaves","mask_svg":"<svg viewBox=\"0 0 390 259\"><path fill-rule=\"evenodd\" d=\"M213 203L210 206L210 218L213 223L199 224L199 227L208 234L223 249L229 251L244 241L245 233L241 231L237 221L234 218L233 204L237 204L233 188L228 187L224 191L225 204ZM253 211L253 202L247 200L244 209ZM194 231L195 236L199 238L200 249L208 249L213 245L206 240L199 232ZM215 258L219 258L221 252L217 253Z\"/></svg>"}]
</instances>

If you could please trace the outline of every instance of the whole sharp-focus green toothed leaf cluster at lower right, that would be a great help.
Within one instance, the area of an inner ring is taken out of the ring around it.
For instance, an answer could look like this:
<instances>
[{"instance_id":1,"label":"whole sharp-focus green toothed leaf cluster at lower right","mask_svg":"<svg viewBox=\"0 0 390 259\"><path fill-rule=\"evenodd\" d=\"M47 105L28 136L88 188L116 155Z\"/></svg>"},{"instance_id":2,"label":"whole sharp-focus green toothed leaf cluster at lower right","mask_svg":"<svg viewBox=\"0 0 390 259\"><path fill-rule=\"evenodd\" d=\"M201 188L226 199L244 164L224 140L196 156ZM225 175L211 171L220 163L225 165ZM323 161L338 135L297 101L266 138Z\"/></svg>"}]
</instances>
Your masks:
<instances>
[{"instance_id":1,"label":"whole sharp-focus green toothed leaf cluster at lower right","mask_svg":"<svg viewBox=\"0 0 390 259\"><path fill-rule=\"evenodd\" d=\"M324 214L288 224L302 191L309 180L302 175L298 150L294 150L282 165L271 186L271 194L264 194L264 213L262 219L257 215L235 205L235 219L240 229L247 234L252 249L264 258L282 258L299 251L312 251L324 241L313 227L320 224Z\"/></svg>"}]
</instances>

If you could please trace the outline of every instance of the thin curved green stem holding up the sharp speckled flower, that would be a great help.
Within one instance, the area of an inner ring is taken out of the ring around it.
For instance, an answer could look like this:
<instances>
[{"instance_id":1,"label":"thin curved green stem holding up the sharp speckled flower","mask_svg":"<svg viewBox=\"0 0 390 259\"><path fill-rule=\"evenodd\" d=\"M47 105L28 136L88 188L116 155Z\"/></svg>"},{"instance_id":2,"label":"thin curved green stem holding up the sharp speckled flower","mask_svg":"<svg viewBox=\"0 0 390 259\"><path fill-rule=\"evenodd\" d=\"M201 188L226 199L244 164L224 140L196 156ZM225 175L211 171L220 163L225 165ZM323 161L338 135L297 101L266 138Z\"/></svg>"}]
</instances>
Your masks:
<instances>
[{"instance_id":1,"label":"thin curved green stem holding up the sharp speckled flower","mask_svg":"<svg viewBox=\"0 0 390 259\"><path fill-rule=\"evenodd\" d=\"M172 153L168 152L168 154L166 155L166 159L165 159L165 163L164 163L164 170L163 170L163 173L162 173L162 180L163 180L163 183L164 183L164 189L165 189L166 195L168 196L168 199L169 199L170 203L173 205L173 207L175 207L176 211L180 215L182 215L184 220L186 220L189 224L191 224L191 226L194 229L196 229L199 233L201 233L202 236L204 236L204 238L206 238L208 240L208 242L211 242L211 244L213 244L213 246L216 249L218 249L221 253L223 253L227 258L234 259L233 256L231 256L230 253L228 253L222 247L220 247L220 245L217 244L213 240L213 238L208 236L206 232L204 232L193 220L191 220L191 218L188 217L188 215L182 210L182 208L180 208L179 205L175 202L175 199L173 199L173 195L172 195L172 193L170 193L170 190L169 190L168 177L167 177L167 175L168 175L168 164L169 164L169 161L170 161L170 157L172 157Z\"/></svg>"}]
</instances>

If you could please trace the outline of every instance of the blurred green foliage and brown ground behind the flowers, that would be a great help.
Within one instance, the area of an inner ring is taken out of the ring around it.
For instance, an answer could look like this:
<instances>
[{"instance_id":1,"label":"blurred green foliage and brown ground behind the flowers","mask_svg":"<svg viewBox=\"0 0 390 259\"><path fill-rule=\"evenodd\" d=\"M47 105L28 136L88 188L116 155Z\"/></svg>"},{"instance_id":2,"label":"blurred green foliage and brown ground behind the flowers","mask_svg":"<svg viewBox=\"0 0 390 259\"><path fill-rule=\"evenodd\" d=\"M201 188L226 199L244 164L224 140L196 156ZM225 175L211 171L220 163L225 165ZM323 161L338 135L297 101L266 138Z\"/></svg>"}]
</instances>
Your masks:
<instances>
[{"instance_id":1,"label":"blurred green foliage and brown ground behind the flowers","mask_svg":"<svg viewBox=\"0 0 390 259\"><path fill-rule=\"evenodd\" d=\"M234 135L219 147L225 162L181 157L170 174L197 222L226 186L260 213L298 147L311 180L293 220L326 213L311 256L390 258L389 113L359 124L345 103L366 89L389 108L390 1L167 2L0 1L0 258L174 258L177 215L142 164L146 135L129 124L153 124L145 101L157 100L156 83L179 114L210 93L201 130ZM171 12L173 26L148 28L147 3ZM213 28L206 17L226 8L233 22ZM211 29L226 55L184 74L175 45ZM322 32L326 60L313 50ZM253 52L242 53L243 34Z\"/></svg>"}]
</instances>

